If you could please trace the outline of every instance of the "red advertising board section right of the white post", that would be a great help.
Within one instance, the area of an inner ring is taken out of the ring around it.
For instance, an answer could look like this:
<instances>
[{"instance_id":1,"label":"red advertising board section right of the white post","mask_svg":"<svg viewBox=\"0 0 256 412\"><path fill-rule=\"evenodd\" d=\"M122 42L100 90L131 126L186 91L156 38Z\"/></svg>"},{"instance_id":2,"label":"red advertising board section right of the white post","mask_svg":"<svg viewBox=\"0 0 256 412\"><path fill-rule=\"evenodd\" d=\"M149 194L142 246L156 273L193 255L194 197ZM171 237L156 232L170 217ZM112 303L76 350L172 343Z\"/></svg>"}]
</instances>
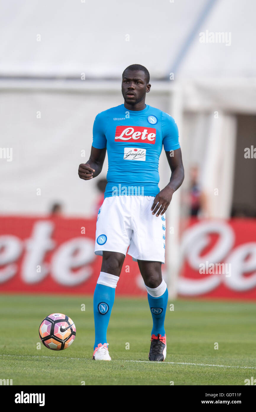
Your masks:
<instances>
[{"instance_id":1,"label":"red advertising board section right of the white post","mask_svg":"<svg viewBox=\"0 0 256 412\"><path fill-rule=\"evenodd\" d=\"M180 296L256 300L256 219L191 219L181 260Z\"/></svg>"}]
</instances>

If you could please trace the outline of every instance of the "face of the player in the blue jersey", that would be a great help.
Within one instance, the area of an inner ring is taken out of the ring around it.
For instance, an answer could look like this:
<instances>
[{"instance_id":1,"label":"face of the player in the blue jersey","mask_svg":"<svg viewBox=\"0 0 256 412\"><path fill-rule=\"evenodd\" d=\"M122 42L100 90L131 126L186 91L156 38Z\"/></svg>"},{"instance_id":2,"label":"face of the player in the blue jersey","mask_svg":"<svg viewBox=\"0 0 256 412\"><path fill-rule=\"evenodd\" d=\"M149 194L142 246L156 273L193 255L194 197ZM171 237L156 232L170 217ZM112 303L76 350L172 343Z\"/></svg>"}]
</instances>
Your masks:
<instances>
[{"instance_id":1,"label":"face of the player in the blue jersey","mask_svg":"<svg viewBox=\"0 0 256 412\"><path fill-rule=\"evenodd\" d=\"M145 100L146 93L150 90L145 73L142 70L126 70L122 80L122 94L124 101L135 105Z\"/></svg>"}]
</instances>

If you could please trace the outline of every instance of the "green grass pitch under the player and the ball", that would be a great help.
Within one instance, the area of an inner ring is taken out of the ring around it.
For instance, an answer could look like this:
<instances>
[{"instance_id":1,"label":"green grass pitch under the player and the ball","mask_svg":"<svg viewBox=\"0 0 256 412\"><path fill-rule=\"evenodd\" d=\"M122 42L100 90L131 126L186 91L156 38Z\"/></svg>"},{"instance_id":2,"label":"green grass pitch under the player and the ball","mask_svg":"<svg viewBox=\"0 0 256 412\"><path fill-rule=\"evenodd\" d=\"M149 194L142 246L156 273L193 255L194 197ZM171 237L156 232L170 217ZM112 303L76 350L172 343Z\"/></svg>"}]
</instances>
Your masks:
<instances>
[{"instance_id":1,"label":"green grass pitch under the player and the ball","mask_svg":"<svg viewBox=\"0 0 256 412\"><path fill-rule=\"evenodd\" d=\"M115 299L107 333L112 361L93 361L92 303L81 296L1 295L0 378L13 385L244 385L256 377L254 303L169 302L161 363L148 362L147 298ZM54 312L72 318L76 338L64 351L37 349L39 325Z\"/></svg>"}]
</instances>

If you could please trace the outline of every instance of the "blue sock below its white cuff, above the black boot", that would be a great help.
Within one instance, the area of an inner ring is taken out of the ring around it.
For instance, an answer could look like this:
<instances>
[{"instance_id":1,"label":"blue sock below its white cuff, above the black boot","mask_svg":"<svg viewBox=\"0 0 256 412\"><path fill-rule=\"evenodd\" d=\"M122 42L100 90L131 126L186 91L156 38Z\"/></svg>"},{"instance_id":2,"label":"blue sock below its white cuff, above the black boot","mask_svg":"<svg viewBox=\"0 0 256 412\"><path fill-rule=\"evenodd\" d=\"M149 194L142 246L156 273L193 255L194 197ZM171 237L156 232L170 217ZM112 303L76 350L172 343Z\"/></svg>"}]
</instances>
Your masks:
<instances>
[{"instance_id":1,"label":"blue sock below its white cuff, above the black boot","mask_svg":"<svg viewBox=\"0 0 256 412\"><path fill-rule=\"evenodd\" d=\"M163 295L159 297L153 297L148 292L148 301L149 301L151 315L153 318L153 328L151 331L151 335L157 336L159 333L161 336L164 336L165 335L165 328L164 328L165 312L166 312L167 303L168 303L167 288L165 289L165 292L163 293Z\"/></svg>"}]
</instances>

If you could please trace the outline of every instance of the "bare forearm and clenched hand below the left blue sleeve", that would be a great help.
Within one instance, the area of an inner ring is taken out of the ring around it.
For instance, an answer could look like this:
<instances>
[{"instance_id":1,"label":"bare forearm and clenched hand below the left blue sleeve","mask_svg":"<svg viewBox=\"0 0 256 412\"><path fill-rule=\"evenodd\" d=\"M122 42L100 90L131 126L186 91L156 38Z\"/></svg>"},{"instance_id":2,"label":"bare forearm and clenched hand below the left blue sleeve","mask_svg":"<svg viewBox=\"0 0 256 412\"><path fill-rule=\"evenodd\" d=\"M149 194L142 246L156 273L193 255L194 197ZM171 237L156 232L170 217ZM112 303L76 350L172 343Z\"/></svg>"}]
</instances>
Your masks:
<instances>
[{"instance_id":1,"label":"bare forearm and clenched hand below the left blue sleeve","mask_svg":"<svg viewBox=\"0 0 256 412\"><path fill-rule=\"evenodd\" d=\"M79 164L78 176L80 179L89 180L100 174L106 151L106 147L103 149L96 149L96 147L93 146L91 147L91 155L88 162Z\"/></svg>"}]
</instances>

